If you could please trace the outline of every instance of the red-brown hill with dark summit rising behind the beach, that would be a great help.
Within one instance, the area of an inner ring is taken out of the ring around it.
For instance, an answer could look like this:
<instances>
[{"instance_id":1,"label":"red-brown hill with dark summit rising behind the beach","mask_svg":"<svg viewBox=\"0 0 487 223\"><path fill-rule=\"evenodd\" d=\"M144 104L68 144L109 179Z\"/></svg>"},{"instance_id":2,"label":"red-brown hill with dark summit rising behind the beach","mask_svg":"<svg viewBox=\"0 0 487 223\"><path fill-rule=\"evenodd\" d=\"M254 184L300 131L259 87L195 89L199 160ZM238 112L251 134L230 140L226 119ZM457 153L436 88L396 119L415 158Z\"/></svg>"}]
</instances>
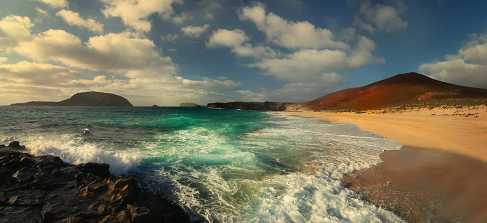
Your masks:
<instances>
[{"instance_id":1,"label":"red-brown hill with dark summit rising behind the beach","mask_svg":"<svg viewBox=\"0 0 487 223\"><path fill-rule=\"evenodd\" d=\"M367 86L333 92L304 103L312 110L367 110L450 98L487 98L487 89L453 85L419 73L398 74Z\"/></svg>"}]
</instances>

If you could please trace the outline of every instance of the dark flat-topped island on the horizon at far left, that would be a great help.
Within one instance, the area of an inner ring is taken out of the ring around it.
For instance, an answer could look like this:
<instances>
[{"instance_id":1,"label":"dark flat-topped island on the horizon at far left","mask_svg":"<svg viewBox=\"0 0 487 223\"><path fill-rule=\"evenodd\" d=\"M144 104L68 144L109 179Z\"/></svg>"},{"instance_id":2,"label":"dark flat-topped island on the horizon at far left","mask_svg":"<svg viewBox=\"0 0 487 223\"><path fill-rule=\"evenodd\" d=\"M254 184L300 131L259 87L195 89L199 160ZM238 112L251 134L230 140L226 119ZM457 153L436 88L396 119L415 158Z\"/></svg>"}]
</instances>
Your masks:
<instances>
[{"instance_id":1,"label":"dark flat-topped island on the horizon at far left","mask_svg":"<svg viewBox=\"0 0 487 223\"><path fill-rule=\"evenodd\" d=\"M11 106L133 106L122 96L96 91L76 93L60 102L14 103Z\"/></svg>"}]
</instances>

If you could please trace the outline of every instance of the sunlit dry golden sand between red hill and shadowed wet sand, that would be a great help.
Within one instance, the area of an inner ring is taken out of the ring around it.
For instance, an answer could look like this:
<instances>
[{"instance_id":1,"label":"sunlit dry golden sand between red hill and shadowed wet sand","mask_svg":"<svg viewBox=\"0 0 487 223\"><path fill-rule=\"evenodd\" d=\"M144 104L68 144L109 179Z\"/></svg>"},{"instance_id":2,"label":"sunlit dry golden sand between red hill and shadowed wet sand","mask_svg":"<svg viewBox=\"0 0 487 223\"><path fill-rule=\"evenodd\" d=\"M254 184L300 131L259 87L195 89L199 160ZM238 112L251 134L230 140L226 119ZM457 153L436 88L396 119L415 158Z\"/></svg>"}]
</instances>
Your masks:
<instances>
[{"instance_id":1,"label":"sunlit dry golden sand between red hill and shadowed wet sand","mask_svg":"<svg viewBox=\"0 0 487 223\"><path fill-rule=\"evenodd\" d=\"M416 109L386 114L377 114L381 111L372 112L283 113L322 118L332 123L354 123L364 131L404 145L448 150L487 161L486 105L462 109Z\"/></svg>"}]
</instances>

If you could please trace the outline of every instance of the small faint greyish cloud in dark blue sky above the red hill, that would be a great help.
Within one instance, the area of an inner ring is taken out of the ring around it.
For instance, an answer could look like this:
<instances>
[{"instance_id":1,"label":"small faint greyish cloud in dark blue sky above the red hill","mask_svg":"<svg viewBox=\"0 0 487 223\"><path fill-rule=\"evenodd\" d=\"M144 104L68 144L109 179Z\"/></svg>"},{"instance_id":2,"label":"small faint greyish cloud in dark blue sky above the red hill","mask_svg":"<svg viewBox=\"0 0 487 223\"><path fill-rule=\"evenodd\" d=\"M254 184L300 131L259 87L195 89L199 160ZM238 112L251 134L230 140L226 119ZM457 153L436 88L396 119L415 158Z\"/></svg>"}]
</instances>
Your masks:
<instances>
[{"instance_id":1,"label":"small faint greyish cloud in dark blue sky above the red hill","mask_svg":"<svg viewBox=\"0 0 487 223\"><path fill-rule=\"evenodd\" d=\"M392 32L408 27L408 22L399 17L399 11L382 4L372 5L369 1L361 2L359 16L355 17L356 27L374 33L376 30Z\"/></svg>"}]
</instances>

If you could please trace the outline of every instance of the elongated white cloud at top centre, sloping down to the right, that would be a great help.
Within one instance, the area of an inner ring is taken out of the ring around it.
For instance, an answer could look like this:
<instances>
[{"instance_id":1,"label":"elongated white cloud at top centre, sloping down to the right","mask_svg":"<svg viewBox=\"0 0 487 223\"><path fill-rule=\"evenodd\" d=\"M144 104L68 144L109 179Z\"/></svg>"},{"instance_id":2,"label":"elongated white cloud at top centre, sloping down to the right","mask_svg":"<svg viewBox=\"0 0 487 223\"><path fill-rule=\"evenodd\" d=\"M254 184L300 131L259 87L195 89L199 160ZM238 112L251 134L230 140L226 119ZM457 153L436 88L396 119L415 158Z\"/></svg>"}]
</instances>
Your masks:
<instances>
[{"instance_id":1,"label":"elongated white cloud at top centre, sloping down to the right","mask_svg":"<svg viewBox=\"0 0 487 223\"><path fill-rule=\"evenodd\" d=\"M330 30L315 27L308 21L288 21L273 13L265 15L263 5L244 7L240 18L253 21L265 33L266 40L278 46L290 49L349 48L347 44L334 40L335 35Z\"/></svg>"}]
</instances>

